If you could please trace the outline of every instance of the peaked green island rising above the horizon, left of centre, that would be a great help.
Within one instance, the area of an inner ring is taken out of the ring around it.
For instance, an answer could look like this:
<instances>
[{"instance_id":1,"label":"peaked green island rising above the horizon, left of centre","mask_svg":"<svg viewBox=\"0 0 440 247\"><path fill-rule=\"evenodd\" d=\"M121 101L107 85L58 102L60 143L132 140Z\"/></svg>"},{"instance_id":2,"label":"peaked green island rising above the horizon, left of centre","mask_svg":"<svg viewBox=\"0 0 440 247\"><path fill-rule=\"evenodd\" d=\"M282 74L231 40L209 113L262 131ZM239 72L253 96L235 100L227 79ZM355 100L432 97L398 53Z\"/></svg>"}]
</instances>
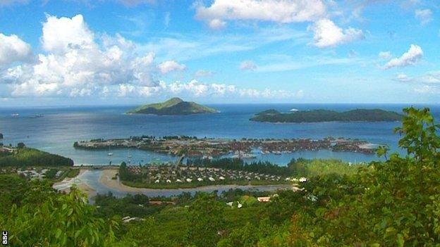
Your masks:
<instances>
[{"instance_id":1,"label":"peaked green island rising above the horizon, left of centre","mask_svg":"<svg viewBox=\"0 0 440 247\"><path fill-rule=\"evenodd\" d=\"M217 113L218 111L195 102L183 101L172 98L162 103L151 103L129 110L128 114L154 114L154 115L190 115L200 113Z\"/></svg>"}]
</instances>

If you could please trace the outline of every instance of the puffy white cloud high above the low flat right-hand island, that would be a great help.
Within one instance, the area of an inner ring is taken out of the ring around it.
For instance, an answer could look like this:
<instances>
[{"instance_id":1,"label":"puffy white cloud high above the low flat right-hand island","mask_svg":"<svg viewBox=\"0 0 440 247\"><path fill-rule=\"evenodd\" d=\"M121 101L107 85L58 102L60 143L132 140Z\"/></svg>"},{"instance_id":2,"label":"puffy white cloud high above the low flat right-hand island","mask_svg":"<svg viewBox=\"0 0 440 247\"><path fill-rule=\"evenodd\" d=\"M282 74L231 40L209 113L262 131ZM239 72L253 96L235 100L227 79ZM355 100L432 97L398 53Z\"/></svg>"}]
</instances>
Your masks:
<instances>
[{"instance_id":1,"label":"puffy white cloud high above the low flat right-hand island","mask_svg":"<svg viewBox=\"0 0 440 247\"><path fill-rule=\"evenodd\" d=\"M337 46L357 39L363 39L362 30L349 27L343 30L329 19L321 19L309 27L314 32L314 45L318 47Z\"/></svg>"}]
</instances>

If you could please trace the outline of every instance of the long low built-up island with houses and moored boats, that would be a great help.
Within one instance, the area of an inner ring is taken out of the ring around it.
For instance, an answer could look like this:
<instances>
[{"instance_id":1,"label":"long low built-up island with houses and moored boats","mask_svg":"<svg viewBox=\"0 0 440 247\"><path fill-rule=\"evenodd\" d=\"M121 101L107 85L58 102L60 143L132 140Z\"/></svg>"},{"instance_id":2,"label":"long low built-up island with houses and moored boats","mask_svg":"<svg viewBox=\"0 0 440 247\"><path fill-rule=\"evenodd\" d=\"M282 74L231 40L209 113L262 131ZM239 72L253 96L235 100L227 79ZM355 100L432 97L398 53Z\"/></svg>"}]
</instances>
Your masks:
<instances>
[{"instance_id":1,"label":"long low built-up island with houses and moored boats","mask_svg":"<svg viewBox=\"0 0 440 247\"><path fill-rule=\"evenodd\" d=\"M334 152L374 154L377 144L365 140L326 137L324 139L222 139L187 136L140 136L126 139L92 139L75 141L74 148L84 150L108 150L109 148L137 148L175 156L232 156L233 158L256 158L261 154L293 153L326 149Z\"/></svg>"}]
</instances>

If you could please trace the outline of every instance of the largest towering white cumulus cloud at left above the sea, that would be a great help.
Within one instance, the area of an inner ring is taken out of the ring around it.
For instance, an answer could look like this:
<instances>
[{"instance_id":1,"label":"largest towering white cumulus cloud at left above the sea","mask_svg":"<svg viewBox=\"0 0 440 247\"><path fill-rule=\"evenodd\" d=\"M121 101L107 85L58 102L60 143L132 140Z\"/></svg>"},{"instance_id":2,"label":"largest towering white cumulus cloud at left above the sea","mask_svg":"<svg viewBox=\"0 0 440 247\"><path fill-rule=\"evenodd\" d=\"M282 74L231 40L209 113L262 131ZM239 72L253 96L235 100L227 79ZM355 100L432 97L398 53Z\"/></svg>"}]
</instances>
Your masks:
<instances>
[{"instance_id":1,"label":"largest towering white cumulus cloud at left above the sea","mask_svg":"<svg viewBox=\"0 0 440 247\"><path fill-rule=\"evenodd\" d=\"M106 85L155 84L154 53L135 56L132 44L120 35L98 43L82 15L48 15L41 40L47 53L39 54L37 63L2 72L12 96L85 96Z\"/></svg>"}]
</instances>

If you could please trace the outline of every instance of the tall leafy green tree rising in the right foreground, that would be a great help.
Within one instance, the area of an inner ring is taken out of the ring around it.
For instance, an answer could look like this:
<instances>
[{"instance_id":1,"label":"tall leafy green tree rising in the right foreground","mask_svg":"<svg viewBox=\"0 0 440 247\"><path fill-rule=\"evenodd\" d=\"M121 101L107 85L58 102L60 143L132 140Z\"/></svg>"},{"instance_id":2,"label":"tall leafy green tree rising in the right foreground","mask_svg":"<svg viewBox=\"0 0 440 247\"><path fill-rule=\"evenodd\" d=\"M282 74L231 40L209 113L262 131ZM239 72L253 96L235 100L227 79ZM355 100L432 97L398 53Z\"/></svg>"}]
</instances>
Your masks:
<instances>
[{"instance_id":1,"label":"tall leafy green tree rising in the right foreground","mask_svg":"<svg viewBox=\"0 0 440 247\"><path fill-rule=\"evenodd\" d=\"M405 108L398 142L405 157L392 153L372 162L351 182L327 184L331 196L315 212L312 231L321 246L437 246L440 243L439 125L429 109ZM382 148L381 155L386 155ZM348 193L346 189L351 187ZM317 190L307 190L316 195ZM301 220L293 220L300 226ZM304 239L297 239L304 241Z\"/></svg>"}]
</instances>

